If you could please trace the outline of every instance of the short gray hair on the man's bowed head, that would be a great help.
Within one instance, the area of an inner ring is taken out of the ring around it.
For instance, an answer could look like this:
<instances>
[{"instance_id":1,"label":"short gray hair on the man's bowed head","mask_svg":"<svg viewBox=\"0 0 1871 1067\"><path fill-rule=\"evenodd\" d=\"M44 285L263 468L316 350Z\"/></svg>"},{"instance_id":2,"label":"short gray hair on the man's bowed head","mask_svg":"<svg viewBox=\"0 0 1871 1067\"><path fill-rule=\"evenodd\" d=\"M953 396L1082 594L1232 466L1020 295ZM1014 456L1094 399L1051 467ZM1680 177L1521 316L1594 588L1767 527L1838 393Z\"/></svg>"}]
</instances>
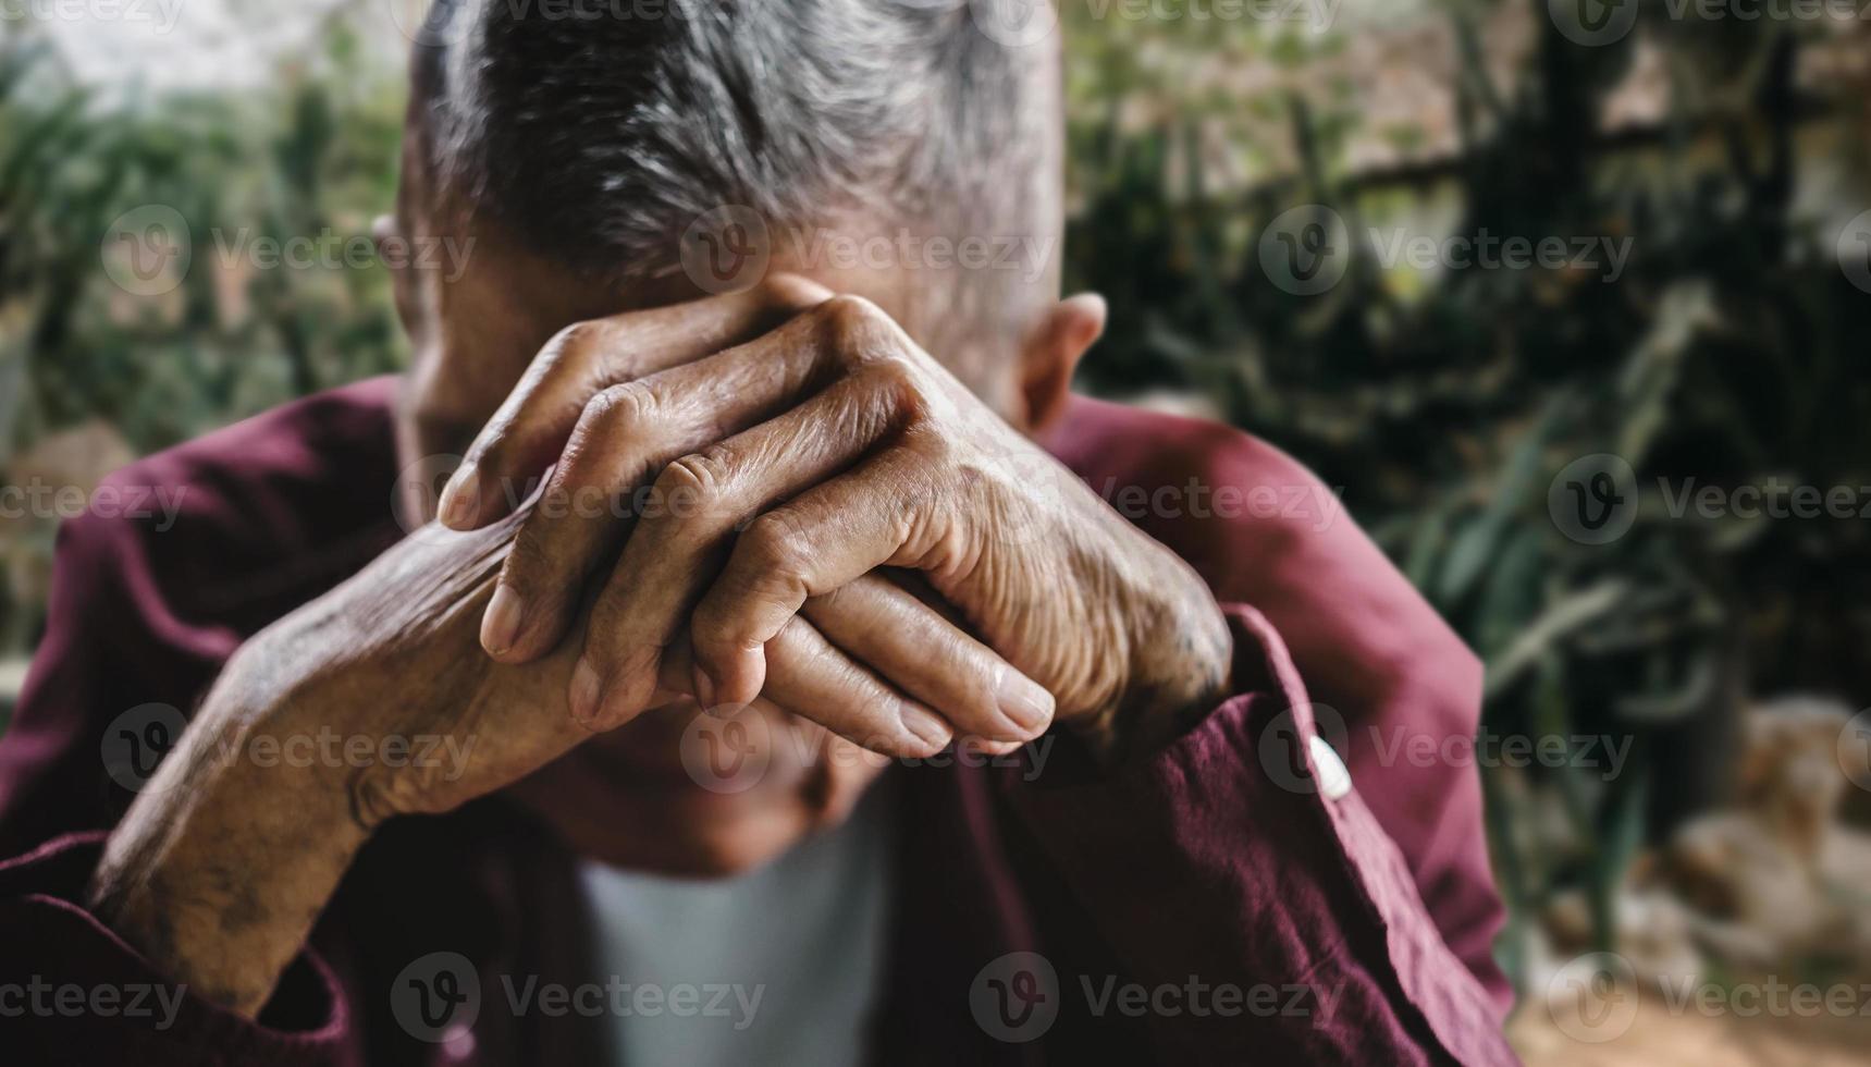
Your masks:
<instances>
[{"instance_id":1,"label":"short gray hair on the man's bowed head","mask_svg":"<svg viewBox=\"0 0 1871 1067\"><path fill-rule=\"evenodd\" d=\"M1035 227L1055 71L971 19L1001 2L1027 0L438 0L417 135L477 212L617 277L668 270L722 204Z\"/></svg>"}]
</instances>

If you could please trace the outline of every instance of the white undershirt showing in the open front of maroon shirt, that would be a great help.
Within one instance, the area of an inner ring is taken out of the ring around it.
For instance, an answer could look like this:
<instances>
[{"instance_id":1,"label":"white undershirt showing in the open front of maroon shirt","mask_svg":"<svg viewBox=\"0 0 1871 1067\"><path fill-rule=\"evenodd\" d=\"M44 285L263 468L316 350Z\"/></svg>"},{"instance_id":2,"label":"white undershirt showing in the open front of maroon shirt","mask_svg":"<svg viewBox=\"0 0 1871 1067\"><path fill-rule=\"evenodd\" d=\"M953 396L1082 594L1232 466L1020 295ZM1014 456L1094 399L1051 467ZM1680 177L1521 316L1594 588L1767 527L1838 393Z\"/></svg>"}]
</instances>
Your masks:
<instances>
[{"instance_id":1,"label":"white undershirt showing in the open front of maroon shirt","mask_svg":"<svg viewBox=\"0 0 1871 1067\"><path fill-rule=\"evenodd\" d=\"M739 878L582 867L597 981L629 987L606 998L625 1005L608 1015L619 1063L863 1061L891 899L881 792L870 790L844 826Z\"/></svg>"}]
</instances>

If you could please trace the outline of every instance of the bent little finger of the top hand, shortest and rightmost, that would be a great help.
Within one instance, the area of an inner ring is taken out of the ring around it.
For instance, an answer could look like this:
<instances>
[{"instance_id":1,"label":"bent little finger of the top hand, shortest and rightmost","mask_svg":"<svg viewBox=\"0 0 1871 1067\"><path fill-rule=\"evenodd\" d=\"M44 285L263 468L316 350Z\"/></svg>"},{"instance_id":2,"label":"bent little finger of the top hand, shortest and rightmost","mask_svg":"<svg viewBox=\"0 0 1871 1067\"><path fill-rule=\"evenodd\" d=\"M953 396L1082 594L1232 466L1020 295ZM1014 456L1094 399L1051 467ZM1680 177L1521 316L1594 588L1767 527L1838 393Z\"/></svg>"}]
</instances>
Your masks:
<instances>
[{"instance_id":1,"label":"bent little finger of the top hand, shortest and rightmost","mask_svg":"<svg viewBox=\"0 0 1871 1067\"><path fill-rule=\"evenodd\" d=\"M758 693L761 646L806 599L876 567L919 567L949 534L939 522L960 519L926 507L932 466L913 440L760 515L735 539L692 612L696 689L722 702Z\"/></svg>"}]
</instances>

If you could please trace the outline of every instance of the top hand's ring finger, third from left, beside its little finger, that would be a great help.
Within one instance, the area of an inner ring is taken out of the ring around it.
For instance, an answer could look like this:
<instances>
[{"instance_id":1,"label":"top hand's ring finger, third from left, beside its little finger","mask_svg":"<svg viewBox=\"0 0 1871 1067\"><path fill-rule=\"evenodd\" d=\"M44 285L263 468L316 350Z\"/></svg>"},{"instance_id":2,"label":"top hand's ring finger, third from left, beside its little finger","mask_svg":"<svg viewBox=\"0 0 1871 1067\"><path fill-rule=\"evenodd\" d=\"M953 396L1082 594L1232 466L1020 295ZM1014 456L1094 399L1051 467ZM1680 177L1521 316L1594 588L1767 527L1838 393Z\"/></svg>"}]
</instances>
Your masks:
<instances>
[{"instance_id":1,"label":"top hand's ring finger, third from left, beside its little finger","mask_svg":"<svg viewBox=\"0 0 1871 1067\"><path fill-rule=\"evenodd\" d=\"M851 352L823 320L801 316L761 341L642 382L689 397L713 389L724 374L748 376L747 367L758 367L767 378L741 389L737 401L773 397L773 406L786 410L670 462L657 475L649 490L653 507L638 519L591 608L574 715L589 715L601 726L629 715L651 681L655 650L687 627L689 610L726 558L735 528L844 470L902 421L906 408L896 397L907 373L904 363ZM788 408L829 374L846 376ZM702 696L703 704L713 702L713 693Z\"/></svg>"}]
</instances>

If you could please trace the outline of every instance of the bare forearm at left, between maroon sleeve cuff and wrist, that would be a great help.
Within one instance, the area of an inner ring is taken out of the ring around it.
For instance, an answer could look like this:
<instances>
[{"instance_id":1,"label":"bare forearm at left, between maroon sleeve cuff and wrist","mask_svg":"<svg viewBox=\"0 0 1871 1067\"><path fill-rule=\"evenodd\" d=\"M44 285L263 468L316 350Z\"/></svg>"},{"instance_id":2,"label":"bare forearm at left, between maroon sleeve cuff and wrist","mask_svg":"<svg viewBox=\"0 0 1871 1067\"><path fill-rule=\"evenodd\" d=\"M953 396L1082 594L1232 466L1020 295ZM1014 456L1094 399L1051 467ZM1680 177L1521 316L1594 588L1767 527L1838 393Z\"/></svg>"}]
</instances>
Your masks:
<instances>
[{"instance_id":1,"label":"bare forearm at left, between maroon sleeve cuff and wrist","mask_svg":"<svg viewBox=\"0 0 1871 1067\"><path fill-rule=\"evenodd\" d=\"M90 904L198 996L258 1015L369 837L333 767L249 753L277 700L239 659L110 835Z\"/></svg>"}]
</instances>

